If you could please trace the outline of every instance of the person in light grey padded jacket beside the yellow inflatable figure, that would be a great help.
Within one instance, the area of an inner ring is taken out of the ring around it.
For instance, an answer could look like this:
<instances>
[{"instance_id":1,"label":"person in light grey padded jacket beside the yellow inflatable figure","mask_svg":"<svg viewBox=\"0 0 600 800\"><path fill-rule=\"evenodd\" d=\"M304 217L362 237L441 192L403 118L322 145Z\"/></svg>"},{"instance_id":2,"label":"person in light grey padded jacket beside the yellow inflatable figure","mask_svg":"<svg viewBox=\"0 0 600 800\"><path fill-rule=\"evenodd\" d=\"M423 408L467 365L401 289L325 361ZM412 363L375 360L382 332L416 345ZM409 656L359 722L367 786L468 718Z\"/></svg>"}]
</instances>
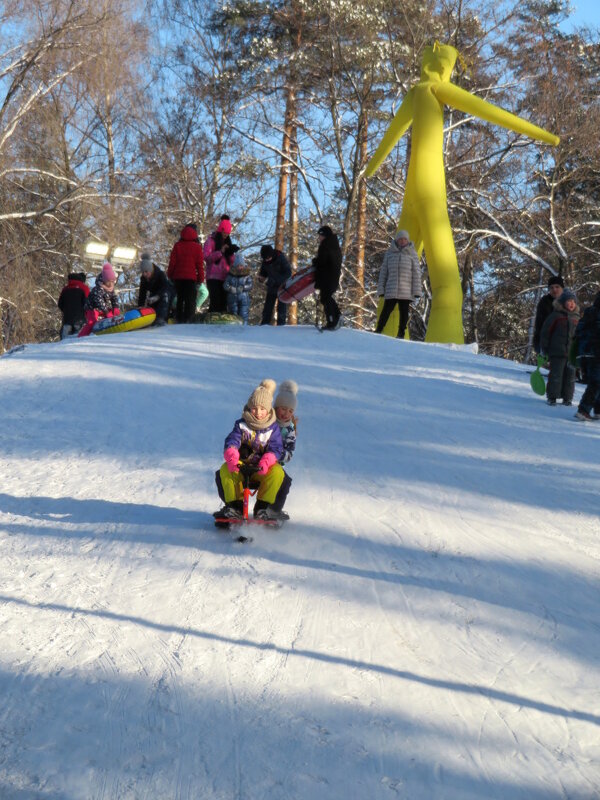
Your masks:
<instances>
[{"instance_id":1,"label":"person in light grey padded jacket beside the yellow inflatable figure","mask_svg":"<svg viewBox=\"0 0 600 800\"><path fill-rule=\"evenodd\" d=\"M377 294L383 295L384 301L375 333L383 332L397 303L400 311L397 336L403 339L410 303L421 296L421 265L407 231L398 231L383 257Z\"/></svg>"}]
</instances>

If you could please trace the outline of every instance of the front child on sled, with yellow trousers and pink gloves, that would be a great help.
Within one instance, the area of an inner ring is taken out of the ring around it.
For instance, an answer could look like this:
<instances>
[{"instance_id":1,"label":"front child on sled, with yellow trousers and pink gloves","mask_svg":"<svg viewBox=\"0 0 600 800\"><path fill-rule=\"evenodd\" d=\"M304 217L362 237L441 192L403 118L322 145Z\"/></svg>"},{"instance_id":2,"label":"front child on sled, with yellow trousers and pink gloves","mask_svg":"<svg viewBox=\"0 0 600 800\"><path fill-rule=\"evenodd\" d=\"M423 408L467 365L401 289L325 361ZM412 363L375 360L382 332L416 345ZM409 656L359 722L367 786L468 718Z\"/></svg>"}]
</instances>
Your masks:
<instances>
[{"instance_id":1,"label":"front child on sled, with yellow trousers and pink gloves","mask_svg":"<svg viewBox=\"0 0 600 800\"><path fill-rule=\"evenodd\" d=\"M239 471L242 462L258 467L252 477L252 482L258 487L254 517L288 519L281 509L291 481L277 463L283 455L283 444L273 409L275 385L275 381L267 378L256 387L244 406L242 416L225 438L225 462L215 473L217 491L225 505L215 512L215 517L242 519L243 483Z\"/></svg>"}]
</instances>

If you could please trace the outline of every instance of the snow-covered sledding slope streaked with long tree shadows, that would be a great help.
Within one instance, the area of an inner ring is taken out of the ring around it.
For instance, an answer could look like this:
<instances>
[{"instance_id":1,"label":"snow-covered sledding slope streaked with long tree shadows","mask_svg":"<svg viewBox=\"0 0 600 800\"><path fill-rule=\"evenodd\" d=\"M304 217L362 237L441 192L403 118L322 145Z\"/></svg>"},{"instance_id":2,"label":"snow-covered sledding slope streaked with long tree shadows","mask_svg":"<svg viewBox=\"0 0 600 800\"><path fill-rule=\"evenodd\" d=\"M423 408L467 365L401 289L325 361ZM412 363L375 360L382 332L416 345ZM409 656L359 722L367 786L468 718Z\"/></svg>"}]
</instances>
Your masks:
<instances>
[{"instance_id":1,"label":"snow-covered sledding slope streaked with long tree shadows","mask_svg":"<svg viewBox=\"0 0 600 800\"><path fill-rule=\"evenodd\" d=\"M267 377L292 521L241 545L214 470ZM0 359L0 797L600 797L600 423L528 378L308 327Z\"/></svg>"}]
</instances>

